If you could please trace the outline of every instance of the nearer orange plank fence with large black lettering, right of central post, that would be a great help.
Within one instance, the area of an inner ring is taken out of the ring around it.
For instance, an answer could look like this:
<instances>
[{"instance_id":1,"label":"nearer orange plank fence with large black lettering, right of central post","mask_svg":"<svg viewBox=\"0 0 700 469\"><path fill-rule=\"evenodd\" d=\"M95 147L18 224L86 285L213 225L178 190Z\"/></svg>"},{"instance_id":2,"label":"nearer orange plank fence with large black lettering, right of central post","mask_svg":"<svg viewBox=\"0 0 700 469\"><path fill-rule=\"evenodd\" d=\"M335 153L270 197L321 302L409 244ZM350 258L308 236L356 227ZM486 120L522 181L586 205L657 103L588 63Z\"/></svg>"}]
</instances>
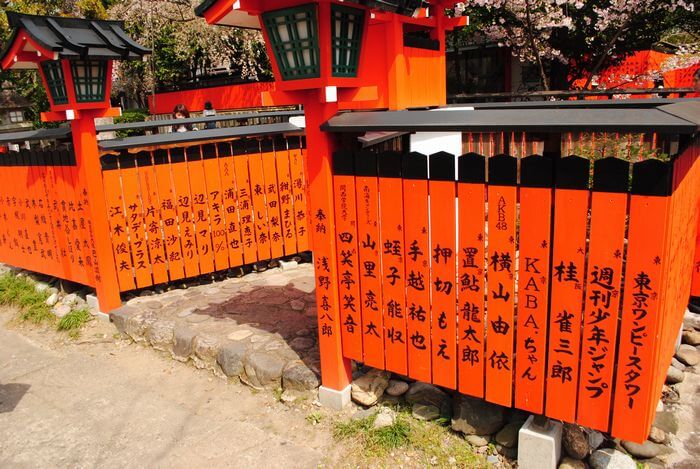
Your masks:
<instances>
[{"instance_id":1,"label":"nearer orange plank fence with large black lettering, right of central post","mask_svg":"<svg viewBox=\"0 0 700 469\"><path fill-rule=\"evenodd\" d=\"M631 164L503 142L334 154L344 355L643 441L690 288L699 146Z\"/></svg>"}]
</instances>

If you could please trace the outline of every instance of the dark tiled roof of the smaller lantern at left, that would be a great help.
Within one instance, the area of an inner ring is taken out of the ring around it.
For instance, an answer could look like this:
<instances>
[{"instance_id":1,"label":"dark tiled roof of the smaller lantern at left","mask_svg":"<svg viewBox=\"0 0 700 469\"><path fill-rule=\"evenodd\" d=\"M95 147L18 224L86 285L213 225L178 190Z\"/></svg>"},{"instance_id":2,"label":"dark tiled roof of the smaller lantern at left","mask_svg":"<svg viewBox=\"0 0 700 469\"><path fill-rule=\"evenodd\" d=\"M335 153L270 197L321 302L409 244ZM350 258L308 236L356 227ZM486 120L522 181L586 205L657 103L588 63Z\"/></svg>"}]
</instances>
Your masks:
<instances>
[{"instance_id":1,"label":"dark tiled roof of the smaller lantern at left","mask_svg":"<svg viewBox=\"0 0 700 469\"><path fill-rule=\"evenodd\" d=\"M131 39L123 21L27 15L8 11L12 35L0 53L4 69L37 68L50 59L141 59L151 51Z\"/></svg>"}]
</instances>

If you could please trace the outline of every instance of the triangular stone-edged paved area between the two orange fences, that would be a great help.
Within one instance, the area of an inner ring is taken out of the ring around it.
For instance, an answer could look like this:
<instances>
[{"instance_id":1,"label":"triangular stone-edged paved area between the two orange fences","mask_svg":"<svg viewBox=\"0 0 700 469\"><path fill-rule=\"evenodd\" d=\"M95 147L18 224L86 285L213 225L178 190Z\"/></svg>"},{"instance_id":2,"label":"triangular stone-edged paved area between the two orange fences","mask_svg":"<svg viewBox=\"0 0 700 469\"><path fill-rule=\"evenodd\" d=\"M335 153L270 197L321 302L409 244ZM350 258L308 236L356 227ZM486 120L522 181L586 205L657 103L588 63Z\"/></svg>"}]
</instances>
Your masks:
<instances>
[{"instance_id":1,"label":"triangular stone-edged paved area between the two orange fences","mask_svg":"<svg viewBox=\"0 0 700 469\"><path fill-rule=\"evenodd\" d=\"M145 292L112 320L136 342L255 388L293 393L319 385L312 264Z\"/></svg>"}]
</instances>

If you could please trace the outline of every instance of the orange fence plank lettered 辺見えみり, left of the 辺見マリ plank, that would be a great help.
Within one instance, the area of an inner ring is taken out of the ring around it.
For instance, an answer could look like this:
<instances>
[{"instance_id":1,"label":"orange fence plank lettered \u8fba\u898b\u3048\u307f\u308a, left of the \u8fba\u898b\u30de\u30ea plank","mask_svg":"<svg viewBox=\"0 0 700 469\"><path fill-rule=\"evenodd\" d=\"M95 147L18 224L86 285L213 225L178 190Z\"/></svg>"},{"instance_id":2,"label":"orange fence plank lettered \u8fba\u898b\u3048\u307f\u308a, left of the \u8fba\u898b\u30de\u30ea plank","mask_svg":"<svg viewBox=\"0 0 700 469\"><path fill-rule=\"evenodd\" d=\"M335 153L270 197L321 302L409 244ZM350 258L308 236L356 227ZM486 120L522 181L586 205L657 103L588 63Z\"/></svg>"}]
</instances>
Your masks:
<instances>
[{"instance_id":1,"label":"orange fence plank lettered \u8fba\u898b\u3048\u307f\u308a, left of the \u8fba\u898b\u30de\u30ea plank","mask_svg":"<svg viewBox=\"0 0 700 469\"><path fill-rule=\"evenodd\" d=\"M197 256L197 240L195 238L192 196L190 195L190 178L187 173L188 164L183 148L172 148L170 155L170 171L173 177L174 195L177 200L177 222L180 230L180 243L185 264L185 277L199 275Z\"/></svg>"}]
</instances>

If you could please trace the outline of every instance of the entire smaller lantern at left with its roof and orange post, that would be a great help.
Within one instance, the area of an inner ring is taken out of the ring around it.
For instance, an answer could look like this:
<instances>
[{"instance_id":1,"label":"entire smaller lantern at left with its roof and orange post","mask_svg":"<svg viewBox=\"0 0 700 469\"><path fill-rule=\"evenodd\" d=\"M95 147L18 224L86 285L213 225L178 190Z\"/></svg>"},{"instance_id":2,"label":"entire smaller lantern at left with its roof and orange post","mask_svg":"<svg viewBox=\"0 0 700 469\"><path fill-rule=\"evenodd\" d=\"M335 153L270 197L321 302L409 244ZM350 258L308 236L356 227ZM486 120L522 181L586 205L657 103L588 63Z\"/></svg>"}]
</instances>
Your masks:
<instances>
[{"instance_id":1,"label":"entire smaller lantern at left with its roof and orange post","mask_svg":"<svg viewBox=\"0 0 700 469\"><path fill-rule=\"evenodd\" d=\"M100 311L121 306L116 265L110 240L107 204L97 146L95 119L121 115L110 107L112 65L141 60L150 51L124 32L121 21L25 15L7 12L12 36L0 53L3 70L38 69L49 98L43 122L69 121L76 157L77 180L86 201L91 237L88 278L95 286ZM100 262L100 260L102 262Z\"/></svg>"}]
</instances>

